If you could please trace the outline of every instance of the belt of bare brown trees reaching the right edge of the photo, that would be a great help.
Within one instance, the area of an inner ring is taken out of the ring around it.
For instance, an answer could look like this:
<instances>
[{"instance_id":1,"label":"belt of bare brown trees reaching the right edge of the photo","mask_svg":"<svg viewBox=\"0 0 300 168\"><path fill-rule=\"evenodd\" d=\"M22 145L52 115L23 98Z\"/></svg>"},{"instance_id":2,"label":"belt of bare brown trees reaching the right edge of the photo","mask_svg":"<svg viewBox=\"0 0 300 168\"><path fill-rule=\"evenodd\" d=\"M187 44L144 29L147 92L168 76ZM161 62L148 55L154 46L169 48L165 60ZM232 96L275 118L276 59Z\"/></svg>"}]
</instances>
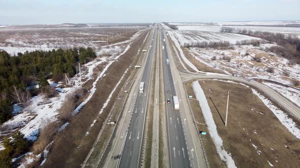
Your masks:
<instances>
[{"instance_id":1,"label":"belt of bare brown trees reaching the right edge of the photo","mask_svg":"<svg viewBox=\"0 0 300 168\"><path fill-rule=\"evenodd\" d=\"M291 60L291 62L300 64L300 39L296 36L285 35L283 33L252 31L246 29L236 30L231 27L222 27L221 32L234 32L238 34L262 38L269 42L276 43L279 46L274 46L267 50L285 57Z\"/></svg>"}]
</instances>

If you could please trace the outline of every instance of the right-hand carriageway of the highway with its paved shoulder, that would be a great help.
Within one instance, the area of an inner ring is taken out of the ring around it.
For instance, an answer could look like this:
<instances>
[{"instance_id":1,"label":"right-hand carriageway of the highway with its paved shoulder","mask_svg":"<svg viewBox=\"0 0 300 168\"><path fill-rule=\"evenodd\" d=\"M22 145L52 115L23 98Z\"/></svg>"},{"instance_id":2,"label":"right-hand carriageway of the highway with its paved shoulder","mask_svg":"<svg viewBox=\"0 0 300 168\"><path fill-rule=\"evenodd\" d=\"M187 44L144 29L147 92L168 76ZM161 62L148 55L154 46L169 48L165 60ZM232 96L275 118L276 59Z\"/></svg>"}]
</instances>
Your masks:
<instances>
[{"instance_id":1,"label":"right-hand carriageway of the highway with its paved shoulder","mask_svg":"<svg viewBox=\"0 0 300 168\"><path fill-rule=\"evenodd\" d=\"M198 133L192 119L183 81L176 67L166 32L161 29L164 91L167 111L168 146L171 167L206 167ZM163 41L165 39L165 41ZM169 59L169 64L166 63ZM167 91L170 93L167 93ZM179 99L179 110L174 110L172 96Z\"/></svg>"}]
</instances>

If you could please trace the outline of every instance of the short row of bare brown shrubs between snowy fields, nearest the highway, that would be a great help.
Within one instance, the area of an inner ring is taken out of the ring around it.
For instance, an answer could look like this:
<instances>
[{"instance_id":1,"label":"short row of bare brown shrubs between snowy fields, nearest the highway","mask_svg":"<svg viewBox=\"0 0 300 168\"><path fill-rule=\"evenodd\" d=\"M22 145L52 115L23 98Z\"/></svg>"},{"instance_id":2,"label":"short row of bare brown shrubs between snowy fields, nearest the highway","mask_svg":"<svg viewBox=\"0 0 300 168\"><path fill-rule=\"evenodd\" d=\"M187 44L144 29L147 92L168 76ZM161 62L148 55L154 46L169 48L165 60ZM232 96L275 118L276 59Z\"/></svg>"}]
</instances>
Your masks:
<instances>
[{"instance_id":1,"label":"short row of bare brown shrubs between snowy fields, nearest the highway","mask_svg":"<svg viewBox=\"0 0 300 168\"><path fill-rule=\"evenodd\" d=\"M214 48L220 50L233 49L233 46L229 43L229 41L198 41L192 44L185 44L184 47L197 47L197 48Z\"/></svg>"}]
</instances>

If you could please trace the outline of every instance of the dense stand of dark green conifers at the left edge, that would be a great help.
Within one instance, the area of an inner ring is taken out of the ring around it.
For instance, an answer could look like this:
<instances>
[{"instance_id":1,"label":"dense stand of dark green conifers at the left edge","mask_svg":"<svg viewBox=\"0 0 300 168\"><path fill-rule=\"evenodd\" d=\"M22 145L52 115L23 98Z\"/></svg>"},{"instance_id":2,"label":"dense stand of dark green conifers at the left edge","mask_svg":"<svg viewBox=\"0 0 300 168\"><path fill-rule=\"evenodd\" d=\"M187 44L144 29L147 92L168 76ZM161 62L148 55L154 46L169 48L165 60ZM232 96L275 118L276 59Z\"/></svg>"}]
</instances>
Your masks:
<instances>
[{"instance_id":1,"label":"dense stand of dark green conifers at the left edge","mask_svg":"<svg viewBox=\"0 0 300 168\"><path fill-rule=\"evenodd\" d=\"M92 48L33 51L12 57L0 50L0 124L11 117L12 102L26 103L31 96L49 89L48 78L61 81L65 73L73 77L79 62L93 58L96 53Z\"/></svg>"}]
</instances>

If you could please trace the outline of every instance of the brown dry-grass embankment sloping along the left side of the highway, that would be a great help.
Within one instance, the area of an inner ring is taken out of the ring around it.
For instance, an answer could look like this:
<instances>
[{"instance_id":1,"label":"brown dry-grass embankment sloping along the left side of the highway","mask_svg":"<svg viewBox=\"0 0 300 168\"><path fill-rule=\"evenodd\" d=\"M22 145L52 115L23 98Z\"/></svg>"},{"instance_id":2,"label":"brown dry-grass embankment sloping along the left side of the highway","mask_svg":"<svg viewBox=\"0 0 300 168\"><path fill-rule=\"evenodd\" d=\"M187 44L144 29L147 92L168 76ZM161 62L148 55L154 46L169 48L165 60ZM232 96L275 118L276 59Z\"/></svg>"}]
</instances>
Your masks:
<instances>
[{"instance_id":1,"label":"brown dry-grass embankment sloping along the left side of the highway","mask_svg":"<svg viewBox=\"0 0 300 168\"><path fill-rule=\"evenodd\" d=\"M68 127L56 136L55 141L47 156L44 167L79 167L85 159L89 149L91 149L99 130L103 127L103 122L109 114L113 101L110 101L99 115L102 104L106 101L108 95L115 87L118 80L123 75L127 67L136 59L136 53L142 44L146 32L133 42L131 48L113 63L107 70L106 76L97 83L97 90L94 96L89 100L78 114L70 119ZM126 74L124 79L130 75L132 68ZM124 81L120 86L124 84ZM111 100L113 100L121 88L115 91ZM98 117L97 117L98 116ZM93 120L97 119L94 127L89 130ZM89 135L85 133L89 131Z\"/></svg>"}]
</instances>

